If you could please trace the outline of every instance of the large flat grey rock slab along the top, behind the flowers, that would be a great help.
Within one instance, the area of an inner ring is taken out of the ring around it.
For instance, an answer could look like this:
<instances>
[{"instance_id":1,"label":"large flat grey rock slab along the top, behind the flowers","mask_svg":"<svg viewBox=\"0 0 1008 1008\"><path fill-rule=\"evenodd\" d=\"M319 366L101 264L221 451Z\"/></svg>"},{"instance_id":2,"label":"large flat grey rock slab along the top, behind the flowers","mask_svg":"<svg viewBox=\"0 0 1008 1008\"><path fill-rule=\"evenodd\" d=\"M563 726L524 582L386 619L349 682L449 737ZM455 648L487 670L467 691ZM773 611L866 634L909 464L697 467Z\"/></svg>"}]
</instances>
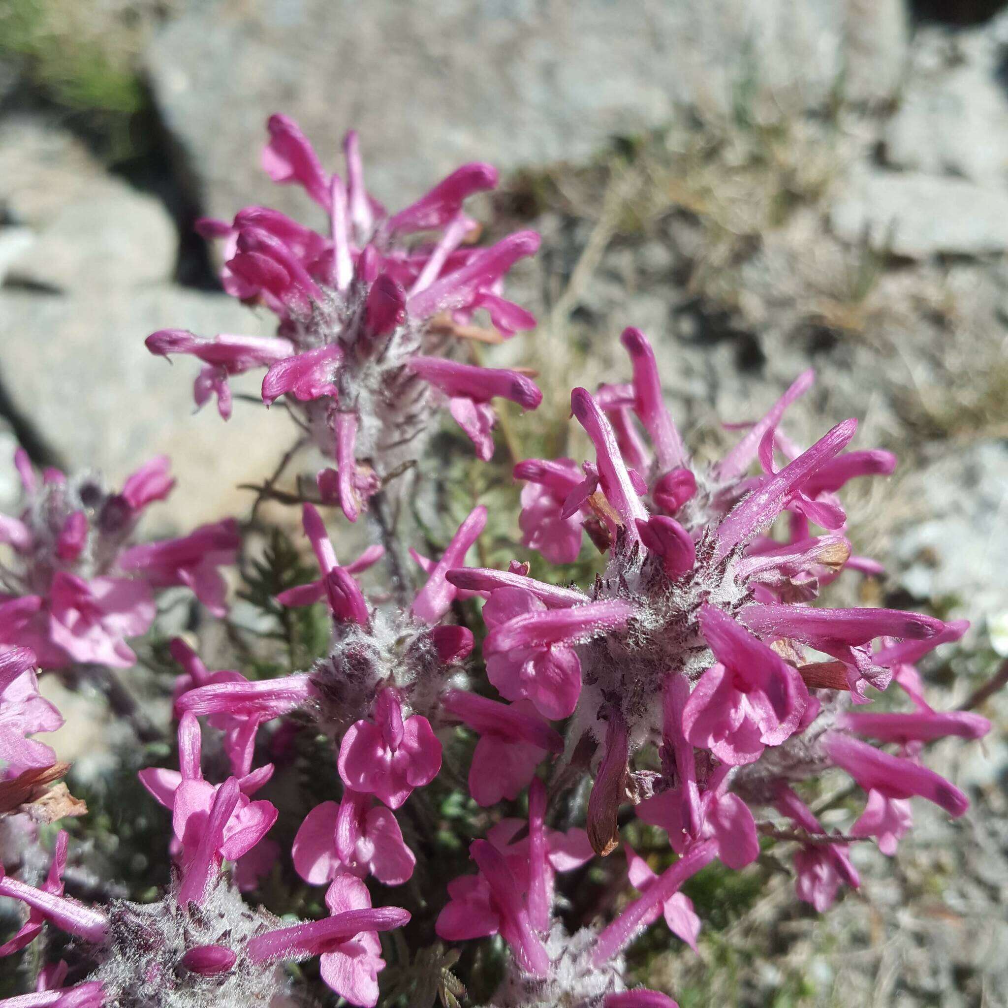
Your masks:
<instances>
[{"instance_id":1,"label":"large flat grey rock slab along the top, behind the flowers","mask_svg":"<svg viewBox=\"0 0 1008 1008\"><path fill-rule=\"evenodd\" d=\"M844 30L829 0L191 0L145 61L207 209L230 217L264 200L303 213L258 168L273 111L334 167L358 128L369 184L398 205L465 160L584 159L678 102L753 115L821 103Z\"/></svg>"}]
</instances>

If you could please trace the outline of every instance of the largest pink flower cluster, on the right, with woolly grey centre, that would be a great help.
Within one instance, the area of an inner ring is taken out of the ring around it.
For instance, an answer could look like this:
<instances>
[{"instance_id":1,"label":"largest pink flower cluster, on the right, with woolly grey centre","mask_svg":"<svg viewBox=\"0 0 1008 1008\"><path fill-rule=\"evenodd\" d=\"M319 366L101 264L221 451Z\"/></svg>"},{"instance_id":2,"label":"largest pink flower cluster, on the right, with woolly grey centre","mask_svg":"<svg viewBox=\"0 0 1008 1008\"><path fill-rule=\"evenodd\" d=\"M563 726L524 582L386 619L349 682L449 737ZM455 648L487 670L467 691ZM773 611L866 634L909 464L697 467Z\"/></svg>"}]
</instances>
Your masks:
<instances>
[{"instance_id":1,"label":"largest pink flower cluster, on the right, with woolly grey centre","mask_svg":"<svg viewBox=\"0 0 1008 1008\"><path fill-rule=\"evenodd\" d=\"M851 836L874 837L887 854L910 825L911 796L962 815L966 796L921 765L922 743L977 739L990 725L931 710L912 663L968 624L810 604L844 570L877 570L852 558L836 492L895 464L885 452L845 451L854 420L805 451L793 445L779 424L810 373L722 462L702 467L661 400L647 339L628 329L623 345L631 384L572 395L595 461L580 473L569 459L515 467L526 481L526 544L570 561L586 528L607 550L605 574L584 593L490 570L453 571L449 581L489 593L490 681L545 718L571 718L569 750L594 768L588 831L597 852L619 843L618 809L631 801L681 857L705 846L741 868L759 853L750 804L773 807L808 837L795 857L797 891L824 909L858 875L847 844L829 840L791 785L831 764L845 770L868 792ZM747 475L756 461L762 475ZM786 537L770 538L781 516ZM813 525L824 531L813 534ZM862 707L868 686L884 689L893 678L913 712ZM648 768L655 749L658 772Z\"/></svg>"}]
</instances>

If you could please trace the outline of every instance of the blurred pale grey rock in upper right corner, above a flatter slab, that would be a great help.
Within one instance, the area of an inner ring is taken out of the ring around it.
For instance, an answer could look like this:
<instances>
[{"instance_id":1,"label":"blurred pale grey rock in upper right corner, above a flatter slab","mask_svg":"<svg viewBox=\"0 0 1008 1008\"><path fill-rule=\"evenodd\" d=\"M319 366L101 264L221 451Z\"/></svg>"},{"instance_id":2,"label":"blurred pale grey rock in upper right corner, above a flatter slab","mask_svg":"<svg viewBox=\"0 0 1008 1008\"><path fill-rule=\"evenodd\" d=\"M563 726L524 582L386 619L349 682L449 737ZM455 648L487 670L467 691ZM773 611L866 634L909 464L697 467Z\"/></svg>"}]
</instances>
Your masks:
<instances>
[{"instance_id":1,"label":"blurred pale grey rock in upper right corner, above a flatter slab","mask_svg":"<svg viewBox=\"0 0 1008 1008\"><path fill-rule=\"evenodd\" d=\"M884 134L890 164L989 183L1008 178L1000 34L997 24L955 34L920 31L899 110Z\"/></svg>"}]
</instances>

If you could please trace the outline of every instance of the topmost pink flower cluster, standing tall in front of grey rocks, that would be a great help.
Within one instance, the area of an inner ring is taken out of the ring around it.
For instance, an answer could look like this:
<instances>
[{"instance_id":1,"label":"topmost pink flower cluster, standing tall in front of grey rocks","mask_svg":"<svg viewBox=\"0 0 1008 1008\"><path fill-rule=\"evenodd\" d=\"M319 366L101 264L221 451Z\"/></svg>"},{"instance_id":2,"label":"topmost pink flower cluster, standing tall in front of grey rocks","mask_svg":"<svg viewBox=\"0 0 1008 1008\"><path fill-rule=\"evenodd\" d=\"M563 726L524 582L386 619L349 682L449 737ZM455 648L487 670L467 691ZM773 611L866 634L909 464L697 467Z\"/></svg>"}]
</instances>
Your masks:
<instances>
[{"instance_id":1,"label":"topmost pink flower cluster, standing tall in front of grey rocks","mask_svg":"<svg viewBox=\"0 0 1008 1008\"><path fill-rule=\"evenodd\" d=\"M300 185L329 218L319 234L279 211L246 207L231 224L204 220L199 230L225 243L225 289L279 318L276 337L161 330L147 349L203 362L198 406L216 395L227 419L228 379L266 368L262 399L283 401L336 468L319 474L324 501L350 521L404 463L416 460L447 405L481 459L493 455L495 398L535 409L542 393L520 371L485 368L442 356L452 336L500 340L535 320L502 296L504 275L533 254L539 236L522 231L496 245L467 244L479 226L463 211L492 190L497 171L464 164L426 196L389 214L364 187L357 134L344 140L346 178L326 171L297 125L269 119L262 165L273 181ZM410 241L411 236L434 240ZM469 325L486 312L489 333Z\"/></svg>"}]
</instances>

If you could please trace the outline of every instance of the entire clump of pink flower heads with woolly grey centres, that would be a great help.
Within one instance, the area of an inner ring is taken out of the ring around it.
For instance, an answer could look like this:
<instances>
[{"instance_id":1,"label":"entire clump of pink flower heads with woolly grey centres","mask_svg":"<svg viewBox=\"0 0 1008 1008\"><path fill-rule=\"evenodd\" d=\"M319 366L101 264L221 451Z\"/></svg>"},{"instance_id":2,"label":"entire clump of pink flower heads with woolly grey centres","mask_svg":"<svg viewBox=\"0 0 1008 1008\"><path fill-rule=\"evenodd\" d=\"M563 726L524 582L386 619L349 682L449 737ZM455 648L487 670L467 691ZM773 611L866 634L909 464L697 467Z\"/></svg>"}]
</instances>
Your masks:
<instances>
[{"instance_id":1,"label":"entire clump of pink flower heads with woolly grey centres","mask_svg":"<svg viewBox=\"0 0 1008 1008\"><path fill-rule=\"evenodd\" d=\"M344 180L322 168L289 120L272 117L269 132L264 167L275 181L304 188L328 216L327 233L264 208L201 227L226 243L227 289L275 311L278 335L202 340L170 330L147 346L201 360L197 403L216 395L225 417L229 378L266 368L263 400L282 397L335 459L336 469L320 474L321 498L353 521L383 481L419 457L440 402L483 459L493 448L493 398L538 405L526 375L436 353L450 335L473 329L478 310L503 336L533 325L501 285L538 240L520 233L489 248L465 244L476 226L464 201L496 182L487 165L463 166L389 215L363 186L353 133ZM421 232L434 240L404 240ZM624 951L659 919L696 951L702 922L682 887L715 860L741 870L757 858L754 809L797 841L797 895L820 911L842 886L860 884L853 843L871 838L894 853L911 826L910 798L964 814L966 795L923 765L923 747L950 735L978 739L990 725L933 710L915 663L959 640L968 624L818 604L845 572L880 570L852 554L838 492L852 479L892 472L895 459L850 450L853 419L808 448L791 440L781 423L811 385L807 372L745 425L724 459L701 464L662 400L649 342L628 329L623 345L632 381L572 394L594 459L533 459L514 469L524 483L525 545L568 563L587 532L605 554L604 573L582 588L533 579L517 559L506 571L468 566L488 517L477 506L438 557L410 551L422 575L411 601L369 598L357 577L384 548L341 563L319 510L304 504L319 577L276 601L326 607L325 656L310 668L256 678L208 669L190 644L171 641L180 668L172 698L177 769L140 772L170 812L167 891L153 903L101 906L66 895L72 854L64 833L39 887L0 867L0 896L28 908L0 956L48 923L87 948L93 964L70 984L68 964L46 967L36 991L8 1008L268 1002L303 993L282 964L307 959L319 960L322 980L340 997L376 1005L385 966L379 934L404 926L410 913L373 906L372 893L410 883L397 900L408 902L422 881L420 872L414 878L416 833L404 836L400 817L424 807L433 788L413 792L430 787L443 764L453 779L468 775L473 803L493 825L470 846L476 871L448 884L429 926L448 942L498 935L506 944L493 1008L675 1008L666 994L628 984ZM5 778L55 761L31 738L61 724L38 694L36 665L132 664L127 641L150 627L158 589L184 586L222 616L219 569L235 561L240 545L230 520L179 539L133 542L144 508L171 489L165 460L118 493L93 477L47 471L39 479L23 454L17 465L25 508L0 519L8 547L0 566ZM474 634L461 622L467 599L482 603L485 681L470 660ZM870 690L893 681L908 709L877 710ZM201 718L216 733L206 758ZM277 806L257 795L277 797L272 760L280 764L285 739L306 724L316 729L312 744L332 746L336 769L332 781L312 781L326 786L288 834L289 867L307 886L326 887L320 919L292 923L242 893L287 867L268 836ZM451 742L471 743L468 767L455 765ZM799 797L797 785L830 768L866 793L844 834L829 832ZM577 795L589 782L585 807ZM526 794L527 817L497 808ZM573 814L566 829L551 829L561 801ZM631 810L667 837L670 863L660 872L626 843L621 824ZM582 813L584 826L572 826ZM639 895L608 921L569 933L560 876L620 844L628 887Z\"/></svg>"}]
</instances>

